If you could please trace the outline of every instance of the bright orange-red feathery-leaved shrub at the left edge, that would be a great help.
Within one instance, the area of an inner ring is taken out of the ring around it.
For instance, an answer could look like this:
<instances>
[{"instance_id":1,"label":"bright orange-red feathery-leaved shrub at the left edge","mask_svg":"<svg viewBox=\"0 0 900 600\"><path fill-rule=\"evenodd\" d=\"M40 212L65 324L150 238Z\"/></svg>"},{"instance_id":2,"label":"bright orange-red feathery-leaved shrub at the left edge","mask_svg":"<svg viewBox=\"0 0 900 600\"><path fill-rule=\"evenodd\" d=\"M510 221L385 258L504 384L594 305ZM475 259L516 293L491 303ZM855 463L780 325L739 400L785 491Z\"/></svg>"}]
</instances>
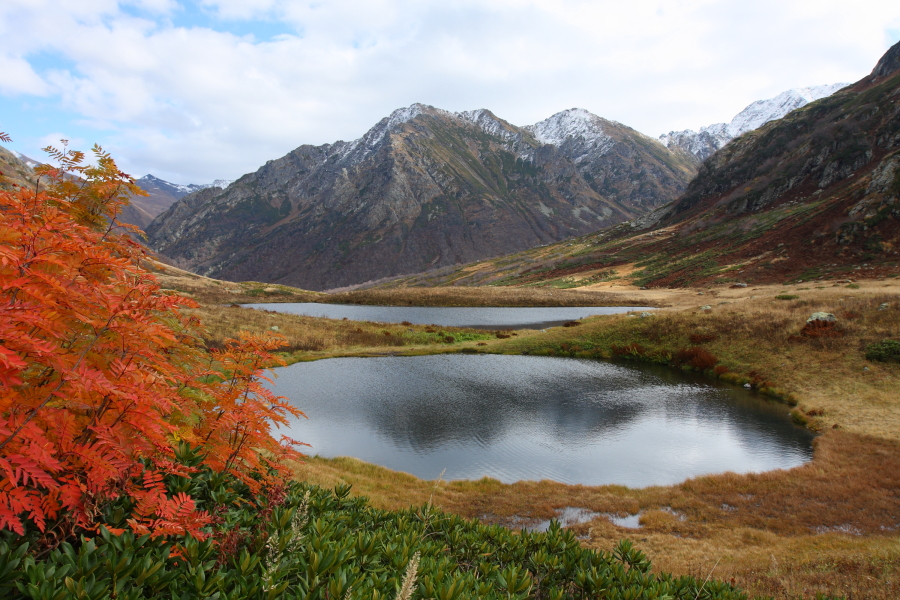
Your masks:
<instances>
[{"instance_id":1,"label":"bright orange-red feathery-leaved shrub at the left edge","mask_svg":"<svg viewBox=\"0 0 900 600\"><path fill-rule=\"evenodd\" d=\"M0 529L63 539L128 498L129 524L203 537L211 521L164 476L188 443L259 489L296 455L271 425L299 411L260 382L277 337L207 352L192 301L160 289L116 217L143 194L94 148L48 149L35 188L0 190Z\"/></svg>"}]
</instances>

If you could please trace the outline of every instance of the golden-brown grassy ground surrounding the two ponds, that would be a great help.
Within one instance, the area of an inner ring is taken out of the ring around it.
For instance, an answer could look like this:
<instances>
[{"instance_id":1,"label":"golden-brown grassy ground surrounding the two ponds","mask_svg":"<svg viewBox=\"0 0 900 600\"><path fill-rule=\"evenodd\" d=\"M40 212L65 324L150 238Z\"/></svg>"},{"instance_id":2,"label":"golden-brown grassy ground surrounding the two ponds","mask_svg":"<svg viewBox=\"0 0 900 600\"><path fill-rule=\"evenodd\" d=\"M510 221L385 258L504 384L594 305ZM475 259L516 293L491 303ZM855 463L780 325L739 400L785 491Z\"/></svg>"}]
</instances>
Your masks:
<instances>
[{"instance_id":1,"label":"golden-brown grassy ground surrounding the two ponds","mask_svg":"<svg viewBox=\"0 0 900 600\"><path fill-rule=\"evenodd\" d=\"M219 306L199 287L194 292L202 302L197 311L211 343L242 328L277 327L291 344L290 360L479 351L654 360L693 368L691 361L699 356L703 360L697 364L709 376L763 389L785 401L786 414L791 411L797 421L819 431L813 461L790 470L725 473L643 489L550 481L423 481L350 458L311 457L296 466L296 473L322 485L350 483L379 507L431 502L463 516L510 525L548 519L565 507L587 509L598 513L596 518L574 526L584 544L608 550L627 537L660 570L700 577L711 572L751 594L798 598L822 591L848 598L900 597L900 364L865 358L870 344L900 340L897 279L676 290L608 285L596 291L619 301L598 304L661 308L653 317L594 317L577 327L499 336ZM440 289L450 291L429 291L432 305L467 293L465 288ZM486 289L474 291L473 297L500 297ZM502 292L507 301L515 289ZM407 301L423 297L419 289L404 293ZM530 293L519 298L524 302ZM561 304L574 301L563 298L557 298ZM265 300L251 296L240 301ZM833 313L836 326L826 335L803 335L806 319L817 311ZM696 348L703 353L685 353ZM640 528L619 527L604 514L639 514Z\"/></svg>"}]
</instances>

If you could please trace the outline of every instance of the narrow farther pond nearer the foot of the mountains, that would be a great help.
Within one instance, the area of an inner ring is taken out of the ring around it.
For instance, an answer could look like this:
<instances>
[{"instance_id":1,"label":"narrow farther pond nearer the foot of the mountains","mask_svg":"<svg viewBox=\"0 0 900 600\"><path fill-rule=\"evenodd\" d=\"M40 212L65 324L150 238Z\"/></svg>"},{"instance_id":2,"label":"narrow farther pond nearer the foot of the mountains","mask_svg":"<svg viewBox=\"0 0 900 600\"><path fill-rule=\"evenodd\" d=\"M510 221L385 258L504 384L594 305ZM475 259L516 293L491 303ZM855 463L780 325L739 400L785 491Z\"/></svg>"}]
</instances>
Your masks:
<instances>
[{"instance_id":1,"label":"narrow farther pond nearer the foot of the mountains","mask_svg":"<svg viewBox=\"0 0 900 600\"><path fill-rule=\"evenodd\" d=\"M315 302L243 304L247 308L276 312L401 323L443 325L444 327L474 327L477 329L544 329L567 321L577 321L593 315L613 315L633 310L653 310L641 306L560 306L560 307L445 307L445 306L359 306L355 304L317 304Z\"/></svg>"}]
</instances>

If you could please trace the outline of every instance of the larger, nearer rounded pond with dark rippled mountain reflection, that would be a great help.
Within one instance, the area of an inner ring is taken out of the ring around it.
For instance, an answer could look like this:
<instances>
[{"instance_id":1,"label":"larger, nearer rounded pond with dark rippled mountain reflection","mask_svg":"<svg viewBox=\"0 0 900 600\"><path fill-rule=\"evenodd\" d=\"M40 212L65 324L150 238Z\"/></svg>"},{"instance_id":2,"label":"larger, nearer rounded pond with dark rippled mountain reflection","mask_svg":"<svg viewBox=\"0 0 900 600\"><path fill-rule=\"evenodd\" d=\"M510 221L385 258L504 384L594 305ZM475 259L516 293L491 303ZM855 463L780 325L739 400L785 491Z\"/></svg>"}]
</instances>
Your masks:
<instances>
[{"instance_id":1,"label":"larger, nearer rounded pond with dark rippled mountain reflection","mask_svg":"<svg viewBox=\"0 0 900 600\"><path fill-rule=\"evenodd\" d=\"M664 367L537 356L334 358L277 369L310 454L423 479L666 485L812 458L784 404Z\"/></svg>"}]
</instances>

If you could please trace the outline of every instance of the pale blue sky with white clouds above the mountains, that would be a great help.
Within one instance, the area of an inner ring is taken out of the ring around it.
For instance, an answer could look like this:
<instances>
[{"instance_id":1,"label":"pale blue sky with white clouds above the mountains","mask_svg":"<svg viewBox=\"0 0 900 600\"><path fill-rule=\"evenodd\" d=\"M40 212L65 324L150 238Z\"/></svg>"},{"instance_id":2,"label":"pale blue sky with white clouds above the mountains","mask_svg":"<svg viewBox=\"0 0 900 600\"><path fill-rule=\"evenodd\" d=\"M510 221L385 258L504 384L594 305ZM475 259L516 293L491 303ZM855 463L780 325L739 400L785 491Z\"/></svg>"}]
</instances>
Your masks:
<instances>
[{"instance_id":1,"label":"pale blue sky with white clouds above the mountains","mask_svg":"<svg viewBox=\"0 0 900 600\"><path fill-rule=\"evenodd\" d=\"M896 0L3 0L0 131L208 183L415 102L699 129L898 40Z\"/></svg>"}]
</instances>

